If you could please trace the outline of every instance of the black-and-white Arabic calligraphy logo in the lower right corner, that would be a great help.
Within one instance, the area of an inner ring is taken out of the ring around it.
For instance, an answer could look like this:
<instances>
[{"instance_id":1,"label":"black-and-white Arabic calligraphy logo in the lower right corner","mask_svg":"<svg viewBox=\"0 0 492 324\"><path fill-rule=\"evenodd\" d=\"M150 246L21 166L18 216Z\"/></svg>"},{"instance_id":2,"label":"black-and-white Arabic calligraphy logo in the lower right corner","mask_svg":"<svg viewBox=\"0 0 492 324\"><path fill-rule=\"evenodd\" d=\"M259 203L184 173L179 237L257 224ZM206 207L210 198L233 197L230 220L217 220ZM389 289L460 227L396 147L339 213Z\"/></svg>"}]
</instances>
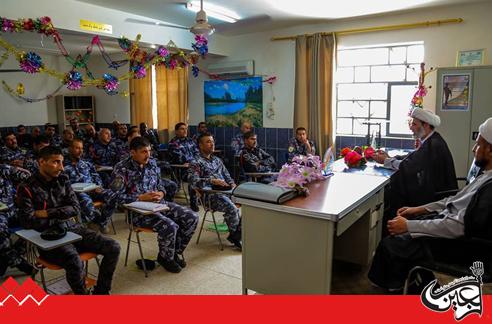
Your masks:
<instances>
[{"instance_id":1,"label":"black-and-white Arabic calligraphy logo in the lower right corner","mask_svg":"<svg viewBox=\"0 0 492 324\"><path fill-rule=\"evenodd\" d=\"M461 277L437 289L437 279L429 283L421 295L424 306L436 312L446 312L452 307L457 321L473 313L481 317L483 263L473 262L470 270L473 277Z\"/></svg>"}]
</instances>

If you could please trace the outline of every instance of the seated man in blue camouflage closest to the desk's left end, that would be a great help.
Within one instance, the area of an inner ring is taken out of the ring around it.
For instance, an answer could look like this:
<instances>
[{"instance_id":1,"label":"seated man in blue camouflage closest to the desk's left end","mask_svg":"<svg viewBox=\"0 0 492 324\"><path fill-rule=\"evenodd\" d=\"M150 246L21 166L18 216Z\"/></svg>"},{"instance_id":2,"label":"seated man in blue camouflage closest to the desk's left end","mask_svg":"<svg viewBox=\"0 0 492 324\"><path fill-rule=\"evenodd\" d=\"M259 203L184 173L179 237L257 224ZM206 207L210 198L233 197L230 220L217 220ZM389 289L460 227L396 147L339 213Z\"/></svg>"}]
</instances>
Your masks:
<instances>
[{"instance_id":1,"label":"seated man in blue camouflage closest to the desk's left end","mask_svg":"<svg viewBox=\"0 0 492 324\"><path fill-rule=\"evenodd\" d=\"M210 133L201 134L198 137L200 155L193 161L188 170L190 186L196 189L204 187L229 187L234 188L236 184L231 178L221 159L213 156L215 143ZM232 244L241 249L241 226L239 209L231 201L231 198L224 194L210 194L205 197L207 203L213 210L224 213L224 220L229 228L229 237Z\"/></svg>"}]
</instances>

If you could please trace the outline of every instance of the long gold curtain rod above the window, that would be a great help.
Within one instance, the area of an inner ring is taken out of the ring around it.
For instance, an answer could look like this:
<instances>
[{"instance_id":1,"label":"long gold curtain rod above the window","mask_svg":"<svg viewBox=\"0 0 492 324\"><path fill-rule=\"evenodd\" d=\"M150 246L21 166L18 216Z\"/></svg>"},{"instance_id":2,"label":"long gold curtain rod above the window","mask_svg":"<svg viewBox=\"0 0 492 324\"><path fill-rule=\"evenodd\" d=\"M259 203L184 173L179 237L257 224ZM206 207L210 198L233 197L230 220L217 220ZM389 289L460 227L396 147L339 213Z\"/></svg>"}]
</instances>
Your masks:
<instances>
[{"instance_id":1,"label":"long gold curtain rod above the window","mask_svg":"<svg viewBox=\"0 0 492 324\"><path fill-rule=\"evenodd\" d=\"M378 32L378 31L387 31L387 30L399 30L399 29L411 29L411 28L419 28L419 27L431 27L431 26L440 26L444 24L459 24L464 20L462 18L452 18L452 19L444 19L444 20L434 20L434 21L423 21L419 23L412 24L400 24L400 25L388 25L388 26L379 26L379 27L368 27L368 28L357 28L357 29L347 29L340 30L335 32L321 32L321 35L330 35L335 34L336 36L341 35L351 35L351 34L362 34L362 33L370 33L370 32ZM306 36L311 37L314 34L301 34L301 35L293 35L293 36L283 36L283 37L272 37L272 41L282 41L282 40L295 40L298 36Z\"/></svg>"}]
</instances>

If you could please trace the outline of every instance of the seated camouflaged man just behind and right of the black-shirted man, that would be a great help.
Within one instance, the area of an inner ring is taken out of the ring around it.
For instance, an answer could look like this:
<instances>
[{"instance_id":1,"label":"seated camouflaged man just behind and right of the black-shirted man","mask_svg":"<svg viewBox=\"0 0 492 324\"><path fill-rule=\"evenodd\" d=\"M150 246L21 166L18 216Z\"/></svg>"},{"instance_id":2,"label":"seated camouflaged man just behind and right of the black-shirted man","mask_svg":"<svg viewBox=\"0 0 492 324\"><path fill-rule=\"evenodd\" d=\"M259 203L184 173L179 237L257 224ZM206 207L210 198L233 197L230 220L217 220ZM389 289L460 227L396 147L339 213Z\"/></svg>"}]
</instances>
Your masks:
<instances>
[{"instance_id":1,"label":"seated camouflaged man just behind and right of the black-shirted man","mask_svg":"<svg viewBox=\"0 0 492 324\"><path fill-rule=\"evenodd\" d=\"M65 174L70 183L94 183L102 187L102 180L96 172L92 162L83 160L83 143L80 138L75 138L69 149L68 158L64 160ZM83 222L88 222L89 227L100 230L104 234L109 233L108 223L115 209L114 195L109 189L97 188L92 192L79 192L81 216ZM103 201L101 212L94 207L94 200Z\"/></svg>"}]
</instances>

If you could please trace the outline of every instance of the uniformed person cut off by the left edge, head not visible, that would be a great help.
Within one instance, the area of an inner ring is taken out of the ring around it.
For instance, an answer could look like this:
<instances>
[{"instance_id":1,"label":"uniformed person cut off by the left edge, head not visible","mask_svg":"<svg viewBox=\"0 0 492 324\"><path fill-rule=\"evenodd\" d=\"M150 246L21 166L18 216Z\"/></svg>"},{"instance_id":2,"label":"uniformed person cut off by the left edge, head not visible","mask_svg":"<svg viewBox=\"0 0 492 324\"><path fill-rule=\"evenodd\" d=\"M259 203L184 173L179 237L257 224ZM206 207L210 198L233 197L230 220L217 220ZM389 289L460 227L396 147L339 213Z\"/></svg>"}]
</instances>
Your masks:
<instances>
[{"instance_id":1,"label":"uniformed person cut off by the left edge, head not visible","mask_svg":"<svg viewBox=\"0 0 492 324\"><path fill-rule=\"evenodd\" d=\"M17 167L0 164L0 202L6 209L0 211L0 277L5 274L7 267L17 267L26 274L32 275L33 267L24 260L23 245L12 245L9 227L18 226L17 207L15 206L15 185L31 176L29 172Z\"/></svg>"}]
</instances>

